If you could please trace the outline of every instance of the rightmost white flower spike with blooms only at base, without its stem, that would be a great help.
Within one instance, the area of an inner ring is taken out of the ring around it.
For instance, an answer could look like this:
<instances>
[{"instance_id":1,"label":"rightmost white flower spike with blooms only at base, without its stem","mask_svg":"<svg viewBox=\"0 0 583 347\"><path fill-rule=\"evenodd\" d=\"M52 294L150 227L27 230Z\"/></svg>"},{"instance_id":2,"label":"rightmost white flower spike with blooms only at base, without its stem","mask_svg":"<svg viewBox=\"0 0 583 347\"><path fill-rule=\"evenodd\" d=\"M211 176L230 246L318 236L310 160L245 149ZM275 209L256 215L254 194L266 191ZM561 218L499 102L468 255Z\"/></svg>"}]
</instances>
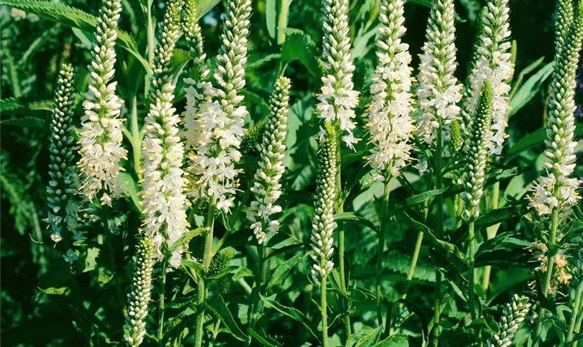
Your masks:
<instances>
[{"instance_id":1,"label":"rightmost white flower spike with blooms only at base, without its stem","mask_svg":"<svg viewBox=\"0 0 583 347\"><path fill-rule=\"evenodd\" d=\"M555 208L568 214L580 199L578 189L582 182L570 176L575 170L575 87L582 40L583 25L577 22L571 23L566 37L556 39L555 72L546 126L546 160L543 161L548 174L539 177L532 187L534 194L530 196L530 206L539 215L550 214Z\"/></svg>"}]
</instances>

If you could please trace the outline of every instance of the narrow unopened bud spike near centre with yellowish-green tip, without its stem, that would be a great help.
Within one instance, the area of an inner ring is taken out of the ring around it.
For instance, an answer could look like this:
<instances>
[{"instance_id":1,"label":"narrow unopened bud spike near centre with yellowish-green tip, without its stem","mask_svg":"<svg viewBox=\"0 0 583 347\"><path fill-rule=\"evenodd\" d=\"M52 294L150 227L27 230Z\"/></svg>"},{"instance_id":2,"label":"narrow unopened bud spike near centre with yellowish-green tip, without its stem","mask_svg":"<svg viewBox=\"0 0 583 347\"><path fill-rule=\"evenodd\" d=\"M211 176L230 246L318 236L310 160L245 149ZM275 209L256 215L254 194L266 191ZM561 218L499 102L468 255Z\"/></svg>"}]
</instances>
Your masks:
<instances>
[{"instance_id":1,"label":"narrow unopened bud spike near centre with yellowish-green tip, without its stem","mask_svg":"<svg viewBox=\"0 0 583 347\"><path fill-rule=\"evenodd\" d=\"M316 211L312 219L312 280L316 285L326 278L334 267L332 253L334 253L334 201L336 197L336 151L338 140L335 137L332 125L324 125L325 133L320 137L320 151L318 153L318 176L316 178Z\"/></svg>"}]
</instances>

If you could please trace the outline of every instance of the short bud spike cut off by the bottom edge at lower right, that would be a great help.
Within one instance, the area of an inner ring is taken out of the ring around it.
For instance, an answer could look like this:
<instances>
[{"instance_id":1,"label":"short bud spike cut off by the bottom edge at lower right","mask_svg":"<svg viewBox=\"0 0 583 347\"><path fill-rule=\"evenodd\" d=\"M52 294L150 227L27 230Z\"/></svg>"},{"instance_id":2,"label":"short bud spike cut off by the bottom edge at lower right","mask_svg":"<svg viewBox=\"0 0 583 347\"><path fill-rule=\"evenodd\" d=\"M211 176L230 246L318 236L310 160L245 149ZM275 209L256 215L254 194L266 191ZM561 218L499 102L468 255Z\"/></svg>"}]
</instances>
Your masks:
<instances>
[{"instance_id":1,"label":"short bud spike cut off by the bottom edge at lower right","mask_svg":"<svg viewBox=\"0 0 583 347\"><path fill-rule=\"evenodd\" d=\"M488 347L510 347L512 346L512 339L516 330L520 328L521 323L525 320L526 315L530 311L532 304L530 299L526 296L518 296L514 294L512 303L507 303L502 313L502 318L498 322L500 327L499 334L492 334L488 339L486 346Z\"/></svg>"}]
</instances>

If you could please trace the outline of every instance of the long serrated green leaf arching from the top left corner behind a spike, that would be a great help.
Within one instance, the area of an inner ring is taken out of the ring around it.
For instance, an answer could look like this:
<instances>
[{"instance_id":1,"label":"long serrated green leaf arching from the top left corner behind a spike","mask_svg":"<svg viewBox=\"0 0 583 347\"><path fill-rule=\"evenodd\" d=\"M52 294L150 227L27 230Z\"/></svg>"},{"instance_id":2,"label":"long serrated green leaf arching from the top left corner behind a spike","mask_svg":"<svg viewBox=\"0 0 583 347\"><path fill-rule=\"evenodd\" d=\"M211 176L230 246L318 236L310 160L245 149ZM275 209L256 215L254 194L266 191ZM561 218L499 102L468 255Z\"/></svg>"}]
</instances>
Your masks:
<instances>
[{"instance_id":1,"label":"long serrated green leaf arching from the top left corner behind a spike","mask_svg":"<svg viewBox=\"0 0 583 347\"><path fill-rule=\"evenodd\" d=\"M39 17L49 19L53 22L65 24L74 28L80 28L83 31L89 31L90 33L93 33L97 26L97 17L79 10L78 8L67 6L64 3L40 0L0 0L0 5L17 8L25 12L33 13ZM126 33L126 31L118 28L117 40L119 41L119 46L123 47L135 56L135 58L140 60L142 65L144 65L144 69L151 72L147 60L145 60L140 52L138 52L137 44L135 44L133 38Z\"/></svg>"}]
</instances>

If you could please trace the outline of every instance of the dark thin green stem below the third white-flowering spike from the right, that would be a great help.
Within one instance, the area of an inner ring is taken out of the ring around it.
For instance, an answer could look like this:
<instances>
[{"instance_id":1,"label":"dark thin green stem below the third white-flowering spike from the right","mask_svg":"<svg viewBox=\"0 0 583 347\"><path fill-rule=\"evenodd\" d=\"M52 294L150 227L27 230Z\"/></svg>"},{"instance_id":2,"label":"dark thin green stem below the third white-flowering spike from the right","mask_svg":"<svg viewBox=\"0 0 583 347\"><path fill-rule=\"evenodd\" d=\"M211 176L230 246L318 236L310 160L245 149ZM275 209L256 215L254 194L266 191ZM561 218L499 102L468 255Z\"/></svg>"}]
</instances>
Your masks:
<instances>
[{"instance_id":1,"label":"dark thin green stem below the third white-flowering spike from the right","mask_svg":"<svg viewBox=\"0 0 583 347\"><path fill-rule=\"evenodd\" d=\"M443 146L441 143L441 124L437 129L437 149L435 150L435 188L441 189L443 185L443 173L441 172L441 151ZM437 239L443 239L443 194L437 196ZM432 330L433 346L437 347L439 342L439 314L441 307L441 272L439 269L435 270L435 304L434 304L434 325Z\"/></svg>"}]
</instances>

